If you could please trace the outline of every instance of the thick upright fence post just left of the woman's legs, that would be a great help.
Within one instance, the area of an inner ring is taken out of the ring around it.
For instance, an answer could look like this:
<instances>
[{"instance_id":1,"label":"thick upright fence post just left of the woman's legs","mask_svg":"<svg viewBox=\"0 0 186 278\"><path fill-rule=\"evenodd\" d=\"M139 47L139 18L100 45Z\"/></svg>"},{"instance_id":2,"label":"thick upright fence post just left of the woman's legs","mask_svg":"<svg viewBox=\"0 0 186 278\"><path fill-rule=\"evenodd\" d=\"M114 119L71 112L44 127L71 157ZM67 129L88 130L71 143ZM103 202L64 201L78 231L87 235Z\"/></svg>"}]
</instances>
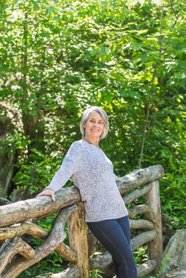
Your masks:
<instances>
[{"instance_id":1,"label":"thick upright fence post just left of the woman's legs","mask_svg":"<svg viewBox=\"0 0 186 278\"><path fill-rule=\"evenodd\" d=\"M77 252L77 265L81 277L89 278L88 235L85 222L85 207L82 201L77 203L78 210L67 219L69 247Z\"/></svg>"}]
</instances>

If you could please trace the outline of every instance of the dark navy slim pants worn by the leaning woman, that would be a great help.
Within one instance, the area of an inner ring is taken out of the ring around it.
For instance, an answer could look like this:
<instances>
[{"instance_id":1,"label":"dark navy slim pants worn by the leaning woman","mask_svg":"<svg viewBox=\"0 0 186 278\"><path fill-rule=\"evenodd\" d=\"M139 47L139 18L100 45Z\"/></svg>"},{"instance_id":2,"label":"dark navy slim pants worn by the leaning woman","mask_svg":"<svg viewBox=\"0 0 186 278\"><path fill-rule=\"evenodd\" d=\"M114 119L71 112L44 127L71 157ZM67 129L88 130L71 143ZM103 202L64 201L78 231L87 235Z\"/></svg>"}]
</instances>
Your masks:
<instances>
[{"instance_id":1,"label":"dark navy slim pants worn by the leaning woman","mask_svg":"<svg viewBox=\"0 0 186 278\"><path fill-rule=\"evenodd\" d=\"M130 248L128 216L87 222L92 234L113 258L117 278L137 278L137 269Z\"/></svg>"}]
</instances>

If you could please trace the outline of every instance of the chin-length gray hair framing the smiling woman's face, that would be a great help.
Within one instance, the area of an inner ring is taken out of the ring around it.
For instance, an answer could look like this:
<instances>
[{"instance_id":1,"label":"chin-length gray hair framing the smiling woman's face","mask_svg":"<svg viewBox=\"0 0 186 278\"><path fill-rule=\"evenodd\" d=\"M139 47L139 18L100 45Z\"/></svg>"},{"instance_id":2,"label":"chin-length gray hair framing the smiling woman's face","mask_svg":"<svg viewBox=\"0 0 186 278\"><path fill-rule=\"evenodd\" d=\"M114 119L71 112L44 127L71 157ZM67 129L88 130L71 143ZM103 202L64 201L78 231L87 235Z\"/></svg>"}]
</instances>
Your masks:
<instances>
[{"instance_id":1,"label":"chin-length gray hair framing the smiling woman's face","mask_svg":"<svg viewBox=\"0 0 186 278\"><path fill-rule=\"evenodd\" d=\"M83 115L82 115L82 119L81 119L81 122L80 122L80 130L81 130L81 133L82 133L82 138L85 136L85 128L83 127L83 124L87 122L89 114L91 112L98 112L101 115L101 117L103 119L103 122L104 122L103 132L99 136L99 141L100 141L108 133L109 123L108 123L108 117L107 117L106 112L98 106L90 106L89 108L84 110Z\"/></svg>"}]
</instances>

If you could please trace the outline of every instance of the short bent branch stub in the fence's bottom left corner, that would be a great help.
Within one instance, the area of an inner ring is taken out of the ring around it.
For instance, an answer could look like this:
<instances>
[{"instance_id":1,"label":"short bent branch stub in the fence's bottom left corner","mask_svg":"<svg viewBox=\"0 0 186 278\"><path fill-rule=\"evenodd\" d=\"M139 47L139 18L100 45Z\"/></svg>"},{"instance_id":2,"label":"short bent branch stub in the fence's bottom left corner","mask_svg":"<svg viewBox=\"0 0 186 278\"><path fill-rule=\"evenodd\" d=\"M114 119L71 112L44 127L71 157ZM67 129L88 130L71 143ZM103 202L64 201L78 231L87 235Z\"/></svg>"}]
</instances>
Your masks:
<instances>
[{"instance_id":1,"label":"short bent branch stub in the fence's bottom left corner","mask_svg":"<svg viewBox=\"0 0 186 278\"><path fill-rule=\"evenodd\" d=\"M22 239L15 237L0 253L0 274L5 269L6 265L11 261L12 257L17 253L21 254L26 259L30 259L34 256L35 251Z\"/></svg>"}]
</instances>

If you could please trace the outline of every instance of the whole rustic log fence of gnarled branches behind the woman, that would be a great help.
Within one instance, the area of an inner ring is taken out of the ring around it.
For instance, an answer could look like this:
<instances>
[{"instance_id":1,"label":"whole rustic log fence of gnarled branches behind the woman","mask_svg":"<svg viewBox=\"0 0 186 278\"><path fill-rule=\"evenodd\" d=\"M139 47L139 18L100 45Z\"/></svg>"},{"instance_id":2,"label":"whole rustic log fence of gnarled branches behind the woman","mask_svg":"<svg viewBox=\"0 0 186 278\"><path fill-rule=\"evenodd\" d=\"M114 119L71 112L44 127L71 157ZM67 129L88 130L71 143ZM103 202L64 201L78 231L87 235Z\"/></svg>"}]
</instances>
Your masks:
<instances>
[{"instance_id":1,"label":"whole rustic log fence of gnarled branches behind the woman","mask_svg":"<svg viewBox=\"0 0 186 278\"><path fill-rule=\"evenodd\" d=\"M131 229L144 229L143 233L131 240L132 251L145 243L148 246L148 261L137 267L138 277L160 267L162 261L162 221L158 179L163 176L163 167L155 165L133 170L122 177L123 182L117 182L126 205L141 196L145 197L145 204L132 203L131 209L128 209ZM136 189L142 185L143 187ZM131 190L134 191L126 195ZM104 270L111 263L111 255L108 252L90 258L96 250L97 240L90 233L85 222L84 202L81 201L79 190L75 186L61 188L56 192L55 199L56 202L53 203L49 196L41 196L0 207L0 276L2 278L16 277L54 250L70 261L68 268L57 274L48 273L37 277L88 278L90 270ZM56 210L59 211L50 232L35 223ZM141 213L146 219L133 219ZM63 243L66 237L64 232L66 220L69 247ZM24 234L32 235L44 243L33 250L21 239ZM17 253L22 256L16 260L12 259Z\"/></svg>"}]
</instances>

